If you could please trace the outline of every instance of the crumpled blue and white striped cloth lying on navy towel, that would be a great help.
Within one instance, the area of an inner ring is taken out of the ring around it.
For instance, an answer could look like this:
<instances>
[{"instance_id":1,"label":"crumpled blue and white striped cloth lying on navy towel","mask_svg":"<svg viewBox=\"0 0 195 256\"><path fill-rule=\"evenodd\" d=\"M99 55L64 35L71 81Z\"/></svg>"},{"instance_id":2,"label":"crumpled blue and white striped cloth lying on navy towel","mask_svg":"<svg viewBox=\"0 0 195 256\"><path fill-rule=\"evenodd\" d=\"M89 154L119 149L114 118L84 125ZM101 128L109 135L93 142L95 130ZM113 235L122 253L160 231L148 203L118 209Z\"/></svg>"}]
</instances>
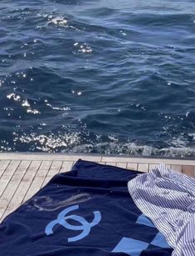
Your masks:
<instances>
[{"instance_id":1,"label":"crumpled blue and white striped cloth lying on navy towel","mask_svg":"<svg viewBox=\"0 0 195 256\"><path fill-rule=\"evenodd\" d=\"M173 256L195 255L195 179L160 164L128 183L138 208L174 248Z\"/></svg>"}]
</instances>

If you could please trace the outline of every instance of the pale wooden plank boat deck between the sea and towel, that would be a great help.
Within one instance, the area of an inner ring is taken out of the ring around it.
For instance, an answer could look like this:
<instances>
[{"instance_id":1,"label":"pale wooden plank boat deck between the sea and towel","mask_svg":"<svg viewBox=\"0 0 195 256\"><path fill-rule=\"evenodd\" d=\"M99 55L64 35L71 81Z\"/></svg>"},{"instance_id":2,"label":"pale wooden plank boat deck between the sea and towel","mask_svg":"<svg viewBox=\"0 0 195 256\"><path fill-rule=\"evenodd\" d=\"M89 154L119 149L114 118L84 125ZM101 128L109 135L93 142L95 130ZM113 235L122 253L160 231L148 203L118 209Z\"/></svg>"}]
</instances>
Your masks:
<instances>
[{"instance_id":1,"label":"pale wooden plank boat deck between the sea and towel","mask_svg":"<svg viewBox=\"0 0 195 256\"><path fill-rule=\"evenodd\" d=\"M0 153L0 223L37 193L56 173L65 173L78 159L148 173L159 163L195 178L195 159L148 158L68 153Z\"/></svg>"}]
</instances>

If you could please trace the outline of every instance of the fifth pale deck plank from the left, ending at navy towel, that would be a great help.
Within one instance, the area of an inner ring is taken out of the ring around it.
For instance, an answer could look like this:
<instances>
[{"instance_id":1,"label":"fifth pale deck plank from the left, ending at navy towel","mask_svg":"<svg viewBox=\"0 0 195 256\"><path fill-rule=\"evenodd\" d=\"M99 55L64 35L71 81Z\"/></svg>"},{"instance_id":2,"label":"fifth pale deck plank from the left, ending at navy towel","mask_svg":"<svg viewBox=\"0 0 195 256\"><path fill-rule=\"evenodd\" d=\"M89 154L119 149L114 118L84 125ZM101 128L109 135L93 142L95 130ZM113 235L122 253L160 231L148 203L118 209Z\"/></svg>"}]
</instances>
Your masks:
<instances>
[{"instance_id":1,"label":"fifth pale deck plank from the left, ending at navy towel","mask_svg":"<svg viewBox=\"0 0 195 256\"><path fill-rule=\"evenodd\" d=\"M51 167L51 163L52 161L42 161L41 166L37 171L36 177L33 179L31 186L27 190L27 194L23 202L27 201L29 198L32 198L32 196L41 188L41 185L46 178L46 174Z\"/></svg>"}]
</instances>

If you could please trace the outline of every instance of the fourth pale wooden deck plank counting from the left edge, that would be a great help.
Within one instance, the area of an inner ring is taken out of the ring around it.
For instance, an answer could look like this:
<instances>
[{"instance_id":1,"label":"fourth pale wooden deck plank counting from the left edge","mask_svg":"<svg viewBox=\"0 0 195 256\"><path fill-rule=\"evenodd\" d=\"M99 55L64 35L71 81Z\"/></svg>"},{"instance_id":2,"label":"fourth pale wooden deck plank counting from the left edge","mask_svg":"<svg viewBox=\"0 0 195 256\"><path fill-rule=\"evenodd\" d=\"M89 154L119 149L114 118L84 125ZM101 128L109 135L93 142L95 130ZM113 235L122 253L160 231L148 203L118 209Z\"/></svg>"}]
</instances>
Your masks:
<instances>
[{"instance_id":1,"label":"fourth pale wooden deck plank counting from the left edge","mask_svg":"<svg viewBox=\"0 0 195 256\"><path fill-rule=\"evenodd\" d=\"M2 218L5 218L7 214L12 213L12 211L14 211L17 207L21 205L23 198L25 197L27 190L31 185L32 180L35 177L40 165L41 161L32 161L30 166L27 168L27 172L22 178L21 183L19 184L17 191L14 193L12 200L8 204L5 213L2 215Z\"/></svg>"}]
</instances>

